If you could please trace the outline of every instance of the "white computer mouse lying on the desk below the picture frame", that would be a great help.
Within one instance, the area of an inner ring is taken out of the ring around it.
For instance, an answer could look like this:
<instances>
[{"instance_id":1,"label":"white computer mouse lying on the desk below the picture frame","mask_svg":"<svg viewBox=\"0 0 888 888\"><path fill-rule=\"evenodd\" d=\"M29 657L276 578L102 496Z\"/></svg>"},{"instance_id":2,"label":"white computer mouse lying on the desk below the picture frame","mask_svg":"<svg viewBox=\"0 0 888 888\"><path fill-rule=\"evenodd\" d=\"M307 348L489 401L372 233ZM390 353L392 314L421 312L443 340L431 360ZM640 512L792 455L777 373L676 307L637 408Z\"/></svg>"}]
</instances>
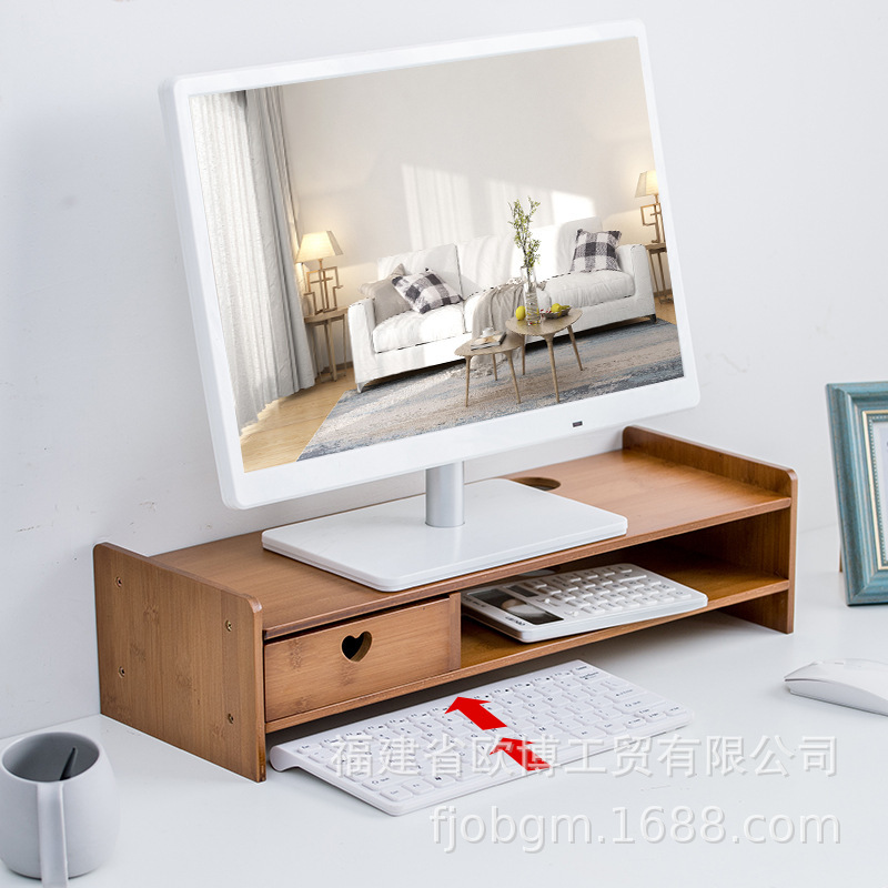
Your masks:
<instances>
[{"instance_id":1,"label":"white computer mouse lying on the desk below the picture frame","mask_svg":"<svg viewBox=\"0 0 888 888\"><path fill-rule=\"evenodd\" d=\"M888 664L875 659L815 660L784 679L794 694L888 715Z\"/></svg>"}]
</instances>

